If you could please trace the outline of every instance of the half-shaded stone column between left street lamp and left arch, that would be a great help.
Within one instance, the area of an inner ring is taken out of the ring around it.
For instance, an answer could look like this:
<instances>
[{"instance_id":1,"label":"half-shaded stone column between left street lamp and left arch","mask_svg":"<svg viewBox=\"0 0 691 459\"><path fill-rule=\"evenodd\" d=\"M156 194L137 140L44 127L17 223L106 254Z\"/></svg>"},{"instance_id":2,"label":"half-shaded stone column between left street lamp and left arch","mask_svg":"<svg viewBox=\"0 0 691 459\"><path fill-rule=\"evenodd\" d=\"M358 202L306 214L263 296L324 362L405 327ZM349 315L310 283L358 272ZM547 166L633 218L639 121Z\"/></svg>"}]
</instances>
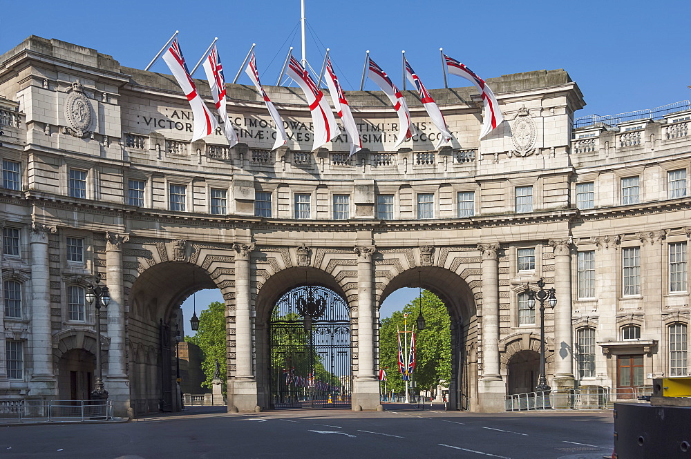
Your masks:
<instances>
[{"instance_id":1,"label":"half-shaded stone column between left street lamp and left arch","mask_svg":"<svg viewBox=\"0 0 691 459\"><path fill-rule=\"evenodd\" d=\"M122 286L122 244L129 241L127 234L106 233L106 286L111 294L108 312L108 374L105 385L113 400L115 416L127 416L130 390L125 362L125 311Z\"/></svg>"}]
</instances>

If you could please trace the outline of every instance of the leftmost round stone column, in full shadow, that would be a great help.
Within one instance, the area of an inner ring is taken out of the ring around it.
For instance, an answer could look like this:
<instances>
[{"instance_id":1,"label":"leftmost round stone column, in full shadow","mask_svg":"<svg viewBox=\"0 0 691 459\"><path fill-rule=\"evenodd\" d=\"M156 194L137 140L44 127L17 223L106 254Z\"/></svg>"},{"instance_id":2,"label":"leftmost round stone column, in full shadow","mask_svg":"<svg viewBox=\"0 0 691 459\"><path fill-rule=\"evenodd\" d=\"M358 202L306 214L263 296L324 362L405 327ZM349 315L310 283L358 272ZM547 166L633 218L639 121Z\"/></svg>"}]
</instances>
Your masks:
<instances>
[{"instance_id":1,"label":"leftmost round stone column, in full shadow","mask_svg":"<svg viewBox=\"0 0 691 459\"><path fill-rule=\"evenodd\" d=\"M31 225L31 350L33 372L29 381L30 395L55 396L53 373L53 334L50 324L50 266L48 265L48 233L57 233L55 226Z\"/></svg>"}]
</instances>

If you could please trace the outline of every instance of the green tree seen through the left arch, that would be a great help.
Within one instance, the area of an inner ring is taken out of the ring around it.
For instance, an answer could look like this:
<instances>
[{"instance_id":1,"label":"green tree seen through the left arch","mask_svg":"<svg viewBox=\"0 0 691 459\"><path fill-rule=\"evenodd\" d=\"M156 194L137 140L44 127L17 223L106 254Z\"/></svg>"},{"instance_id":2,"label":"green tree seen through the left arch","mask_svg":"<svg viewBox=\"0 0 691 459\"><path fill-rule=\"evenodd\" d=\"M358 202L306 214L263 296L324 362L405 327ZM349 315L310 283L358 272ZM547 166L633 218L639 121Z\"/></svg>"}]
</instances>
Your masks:
<instances>
[{"instance_id":1,"label":"green tree seen through the left arch","mask_svg":"<svg viewBox=\"0 0 691 459\"><path fill-rule=\"evenodd\" d=\"M196 344L204 355L202 371L207 379L202 382L203 387L211 388L211 380L216 372L216 361L220 364L220 380L223 393L226 389L226 362L225 362L225 304L213 302L209 308L199 314L199 330L194 336L186 336L184 340Z\"/></svg>"}]
</instances>

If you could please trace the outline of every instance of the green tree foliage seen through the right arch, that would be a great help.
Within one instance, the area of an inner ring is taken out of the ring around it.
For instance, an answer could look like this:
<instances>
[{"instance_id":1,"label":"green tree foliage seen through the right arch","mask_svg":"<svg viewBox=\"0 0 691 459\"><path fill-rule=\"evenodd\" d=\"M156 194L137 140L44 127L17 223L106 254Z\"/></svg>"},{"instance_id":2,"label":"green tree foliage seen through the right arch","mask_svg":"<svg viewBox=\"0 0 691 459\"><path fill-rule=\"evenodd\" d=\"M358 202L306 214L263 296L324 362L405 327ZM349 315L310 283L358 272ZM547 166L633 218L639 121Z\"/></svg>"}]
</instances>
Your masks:
<instances>
[{"instance_id":1,"label":"green tree foliage seen through the right arch","mask_svg":"<svg viewBox=\"0 0 691 459\"><path fill-rule=\"evenodd\" d=\"M415 326L420 311L420 299L415 298L396 311L390 318L381 321L379 329L379 365L386 370L388 390L405 390L405 382L398 370L397 332L404 330L404 313L408 313L408 330ZM422 314L425 329L415 332L416 365L413 378L419 389L433 389L440 382L451 380L451 319L446 306L437 295L422 291ZM404 337L401 335L401 346ZM408 333L410 345L410 333Z\"/></svg>"}]
</instances>

